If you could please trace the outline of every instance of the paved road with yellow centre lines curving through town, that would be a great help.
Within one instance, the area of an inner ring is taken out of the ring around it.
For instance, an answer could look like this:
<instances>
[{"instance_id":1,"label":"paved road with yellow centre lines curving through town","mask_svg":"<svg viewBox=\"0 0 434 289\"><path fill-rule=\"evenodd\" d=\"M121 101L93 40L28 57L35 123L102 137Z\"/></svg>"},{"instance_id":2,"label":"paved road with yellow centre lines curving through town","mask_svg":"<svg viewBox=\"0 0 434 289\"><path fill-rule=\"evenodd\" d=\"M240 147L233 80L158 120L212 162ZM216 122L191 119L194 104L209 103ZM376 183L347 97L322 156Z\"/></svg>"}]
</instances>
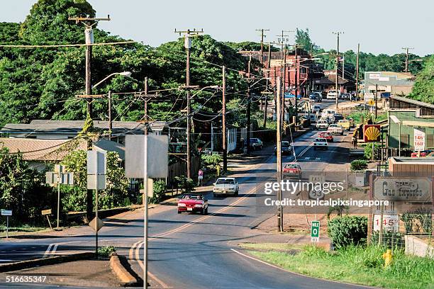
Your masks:
<instances>
[{"instance_id":1,"label":"paved road with yellow centre lines curving through town","mask_svg":"<svg viewBox=\"0 0 434 289\"><path fill-rule=\"evenodd\" d=\"M321 103L328 106L330 103ZM317 134L308 132L294 146L297 162L304 170L323 170L328 164L345 162L343 137L329 151L313 151L311 142ZM237 175L241 186L238 198L213 198L209 215L177 214L175 206L160 206L150 213L149 268L152 286L157 288L356 288L359 286L333 283L282 271L250 259L238 251L236 244L246 237L260 234L251 228L268 215L255 209L256 176L274 171L275 157L269 149L266 162L257 164ZM294 157L284 157L292 162ZM143 220L140 212L130 220L111 220L100 231L100 246L116 244L118 253L128 256L130 265L139 275L143 267ZM56 246L57 245L57 246ZM53 251L55 249L55 251ZM1 242L0 259L28 259L44 254L67 254L71 251L91 251L94 237L91 229L82 234L19 242ZM234 251L235 249L235 251ZM12 251L16 250L16 251ZM11 252L14 252L11 254ZM240 254L241 253L241 254ZM26 255L29 254L29 255ZM33 255L30 255L33 254ZM0 282L0 288L5 283ZM43 286L45 288L45 286ZM50 288L50 287L46 287Z\"/></svg>"}]
</instances>

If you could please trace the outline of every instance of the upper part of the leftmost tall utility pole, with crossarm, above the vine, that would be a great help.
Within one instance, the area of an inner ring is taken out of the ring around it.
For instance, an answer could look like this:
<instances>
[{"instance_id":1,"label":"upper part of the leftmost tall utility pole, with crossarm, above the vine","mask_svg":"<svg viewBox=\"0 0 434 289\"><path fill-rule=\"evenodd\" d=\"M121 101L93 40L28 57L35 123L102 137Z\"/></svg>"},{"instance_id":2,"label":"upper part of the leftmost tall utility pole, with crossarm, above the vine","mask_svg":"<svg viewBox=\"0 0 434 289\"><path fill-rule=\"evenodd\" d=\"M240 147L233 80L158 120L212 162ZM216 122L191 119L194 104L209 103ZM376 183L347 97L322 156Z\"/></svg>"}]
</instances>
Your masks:
<instances>
[{"instance_id":1,"label":"upper part of the leftmost tall utility pole, with crossarm, above the vine","mask_svg":"<svg viewBox=\"0 0 434 289\"><path fill-rule=\"evenodd\" d=\"M68 17L69 21L75 21L75 23L84 24L84 39L86 40L86 92L88 96L92 94L92 84L91 84L91 61L92 61L92 44L94 43L94 31L93 27L99 21L110 21L110 15L107 18L89 18L89 17ZM92 118L92 98L87 98L87 113L90 118Z\"/></svg>"}]
</instances>

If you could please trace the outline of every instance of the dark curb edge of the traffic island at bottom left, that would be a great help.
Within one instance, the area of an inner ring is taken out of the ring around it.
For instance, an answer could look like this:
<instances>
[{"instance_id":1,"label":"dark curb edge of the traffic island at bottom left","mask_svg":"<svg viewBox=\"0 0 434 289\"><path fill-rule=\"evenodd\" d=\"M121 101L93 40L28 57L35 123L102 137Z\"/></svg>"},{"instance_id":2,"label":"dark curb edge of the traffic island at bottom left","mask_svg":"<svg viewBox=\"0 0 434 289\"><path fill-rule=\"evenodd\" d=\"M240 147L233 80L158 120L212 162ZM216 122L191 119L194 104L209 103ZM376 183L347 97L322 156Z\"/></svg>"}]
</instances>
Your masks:
<instances>
[{"instance_id":1,"label":"dark curb edge of the traffic island at bottom left","mask_svg":"<svg viewBox=\"0 0 434 289\"><path fill-rule=\"evenodd\" d=\"M94 258L94 256L95 253L93 252L85 252L85 253L69 254L65 256L54 256L48 258L7 263L7 264L0 265L0 272L9 272L9 271L16 271L25 268L32 268L35 266L47 266L55 263L65 263L70 261L91 259Z\"/></svg>"}]
</instances>

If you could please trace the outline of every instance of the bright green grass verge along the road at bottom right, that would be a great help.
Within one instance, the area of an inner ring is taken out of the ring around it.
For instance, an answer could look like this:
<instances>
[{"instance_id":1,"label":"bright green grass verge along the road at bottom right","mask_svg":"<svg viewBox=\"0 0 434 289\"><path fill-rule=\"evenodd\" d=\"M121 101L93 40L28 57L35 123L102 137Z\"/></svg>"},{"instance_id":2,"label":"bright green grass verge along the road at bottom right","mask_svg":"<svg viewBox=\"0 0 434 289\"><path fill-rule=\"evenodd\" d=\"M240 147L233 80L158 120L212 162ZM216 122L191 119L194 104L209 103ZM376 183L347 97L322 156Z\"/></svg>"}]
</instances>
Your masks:
<instances>
[{"instance_id":1,"label":"bright green grass verge along the road at bottom right","mask_svg":"<svg viewBox=\"0 0 434 289\"><path fill-rule=\"evenodd\" d=\"M268 245L264 245L264 248ZM254 248L252 248L254 249ZM316 246L304 246L299 254L281 250L250 251L259 259L306 276L382 288L434 288L434 260L394 252L391 266L384 268L377 246L350 246L328 253Z\"/></svg>"}]
</instances>

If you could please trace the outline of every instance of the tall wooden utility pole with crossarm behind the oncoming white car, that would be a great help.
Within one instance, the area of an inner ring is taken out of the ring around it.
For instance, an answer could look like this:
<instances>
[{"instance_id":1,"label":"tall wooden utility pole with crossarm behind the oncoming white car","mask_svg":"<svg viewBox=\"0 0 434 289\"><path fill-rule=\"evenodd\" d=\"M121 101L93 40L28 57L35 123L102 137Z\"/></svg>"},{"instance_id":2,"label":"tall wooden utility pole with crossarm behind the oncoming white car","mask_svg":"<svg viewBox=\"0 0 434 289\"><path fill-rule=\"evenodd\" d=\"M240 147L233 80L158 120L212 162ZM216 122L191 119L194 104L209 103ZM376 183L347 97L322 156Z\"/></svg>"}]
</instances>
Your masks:
<instances>
[{"instance_id":1,"label":"tall wooden utility pole with crossarm behind the oncoming white car","mask_svg":"<svg viewBox=\"0 0 434 289\"><path fill-rule=\"evenodd\" d=\"M190 49L191 49L191 37L199 35L199 33L204 33L204 30L184 30L177 31L175 29L175 33L179 33L179 35L184 34L184 47L187 52L187 69L186 69L186 78L185 78L185 88L187 89L187 179L191 179L191 152L190 152L190 130L191 130L191 106L190 106Z\"/></svg>"}]
</instances>

